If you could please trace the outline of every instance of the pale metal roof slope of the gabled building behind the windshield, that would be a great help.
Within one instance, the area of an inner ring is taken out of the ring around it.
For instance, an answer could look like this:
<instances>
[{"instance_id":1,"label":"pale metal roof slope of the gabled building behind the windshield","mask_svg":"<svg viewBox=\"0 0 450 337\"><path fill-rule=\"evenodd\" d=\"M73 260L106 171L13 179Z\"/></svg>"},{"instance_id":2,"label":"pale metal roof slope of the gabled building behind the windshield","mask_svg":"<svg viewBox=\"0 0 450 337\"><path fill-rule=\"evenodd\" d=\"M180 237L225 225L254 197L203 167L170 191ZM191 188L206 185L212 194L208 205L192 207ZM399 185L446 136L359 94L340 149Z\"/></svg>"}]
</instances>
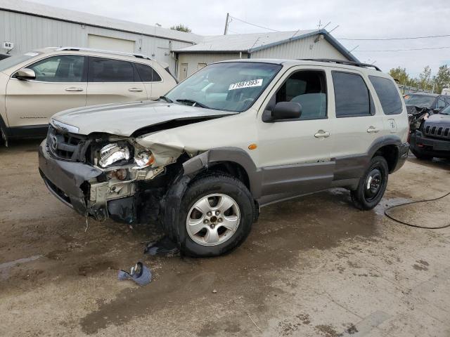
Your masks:
<instances>
[{"instance_id":1,"label":"pale metal roof slope of the gabled building behind the windshield","mask_svg":"<svg viewBox=\"0 0 450 337\"><path fill-rule=\"evenodd\" d=\"M251 49L275 44L279 41L288 40L294 37L303 36L317 30L298 30L292 32L271 32L271 33L253 33L253 34L230 34L230 35L212 35L205 37L194 46L188 46L176 50L177 52L249 52Z\"/></svg>"}]
</instances>

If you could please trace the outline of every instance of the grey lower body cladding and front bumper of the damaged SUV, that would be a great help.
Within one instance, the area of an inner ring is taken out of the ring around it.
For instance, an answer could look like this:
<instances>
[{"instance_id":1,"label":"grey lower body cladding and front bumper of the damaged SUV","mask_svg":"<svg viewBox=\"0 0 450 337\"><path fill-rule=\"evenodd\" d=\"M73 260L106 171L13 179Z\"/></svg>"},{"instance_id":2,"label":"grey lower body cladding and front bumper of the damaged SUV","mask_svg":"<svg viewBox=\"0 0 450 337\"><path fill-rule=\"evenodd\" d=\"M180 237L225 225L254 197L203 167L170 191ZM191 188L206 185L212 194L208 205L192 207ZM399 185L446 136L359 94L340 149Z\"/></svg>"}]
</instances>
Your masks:
<instances>
[{"instance_id":1,"label":"grey lower body cladding and front bumper of the damaged SUV","mask_svg":"<svg viewBox=\"0 0 450 337\"><path fill-rule=\"evenodd\" d=\"M397 143L395 160L390 172L397 171L408 156L409 144ZM379 148L377 146L374 149ZM330 187L346 187L354 190L361 176L367 168L368 162L375 154L368 152L355 156L341 157L309 164L292 164L285 166L271 166L257 169L250 156L243 150L233 148L214 149L184 161L181 166L167 166L172 170L169 180L153 180L150 185L136 184L136 192L123 195L118 199L103 199L96 202L91 191L94 183L103 172L94 167L75 161L54 159L46 149L46 142L39 147L39 171L49 190L66 205L84 216L94 216L102 220L112 218L125 223L143 222L142 219L156 220L160 215L161 207L169 204L179 204L183 191L189 180L198 172L213 169L221 161L235 161L248 173L250 192L260 206L271 204L283 199L298 197L300 195L326 190ZM183 177L186 182L176 180ZM182 191L176 190L183 187ZM176 190L176 193L172 193ZM98 195L98 194L97 194ZM177 211L172 212L176 214ZM173 215L172 214L172 215ZM173 219L164 219L170 221Z\"/></svg>"}]
</instances>

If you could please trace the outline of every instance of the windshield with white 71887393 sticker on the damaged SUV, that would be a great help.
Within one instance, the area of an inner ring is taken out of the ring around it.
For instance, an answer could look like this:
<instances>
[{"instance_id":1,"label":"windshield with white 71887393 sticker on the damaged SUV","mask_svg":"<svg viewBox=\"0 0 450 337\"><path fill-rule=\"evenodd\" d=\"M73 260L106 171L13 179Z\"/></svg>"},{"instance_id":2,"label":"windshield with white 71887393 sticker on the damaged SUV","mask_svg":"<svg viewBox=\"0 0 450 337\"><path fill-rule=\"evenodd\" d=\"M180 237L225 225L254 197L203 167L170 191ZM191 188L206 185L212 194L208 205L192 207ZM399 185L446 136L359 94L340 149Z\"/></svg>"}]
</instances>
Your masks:
<instances>
[{"instance_id":1,"label":"windshield with white 71887393 sticker on the damaged SUV","mask_svg":"<svg viewBox=\"0 0 450 337\"><path fill-rule=\"evenodd\" d=\"M169 91L166 98L181 104L243 112L257 100L281 65L224 62L208 65Z\"/></svg>"}]
</instances>

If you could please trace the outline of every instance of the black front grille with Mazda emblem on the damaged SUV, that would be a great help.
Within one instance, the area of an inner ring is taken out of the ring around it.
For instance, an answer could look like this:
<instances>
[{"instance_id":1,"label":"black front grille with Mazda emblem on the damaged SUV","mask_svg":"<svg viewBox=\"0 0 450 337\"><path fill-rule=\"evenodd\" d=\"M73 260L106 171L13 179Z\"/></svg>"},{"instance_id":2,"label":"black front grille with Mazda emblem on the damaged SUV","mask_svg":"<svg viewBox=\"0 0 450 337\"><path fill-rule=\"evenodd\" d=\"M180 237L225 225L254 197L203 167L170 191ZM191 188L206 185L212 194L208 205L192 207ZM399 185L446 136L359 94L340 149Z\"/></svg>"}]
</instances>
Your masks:
<instances>
[{"instance_id":1,"label":"black front grille with Mazda emblem on the damaged SUV","mask_svg":"<svg viewBox=\"0 0 450 337\"><path fill-rule=\"evenodd\" d=\"M68 161L85 161L84 154L89 143L86 136L60 131L49 126L47 146L54 157Z\"/></svg>"}]
</instances>

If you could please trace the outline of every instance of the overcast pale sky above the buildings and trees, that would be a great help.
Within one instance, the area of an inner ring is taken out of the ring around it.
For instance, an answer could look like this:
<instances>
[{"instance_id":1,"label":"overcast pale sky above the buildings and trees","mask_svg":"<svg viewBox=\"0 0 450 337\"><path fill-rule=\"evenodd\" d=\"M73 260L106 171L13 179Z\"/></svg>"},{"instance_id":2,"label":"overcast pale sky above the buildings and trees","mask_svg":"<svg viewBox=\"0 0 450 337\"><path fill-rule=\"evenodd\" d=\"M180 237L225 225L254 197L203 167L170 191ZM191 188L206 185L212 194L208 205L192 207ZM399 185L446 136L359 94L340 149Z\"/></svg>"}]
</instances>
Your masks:
<instances>
[{"instance_id":1,"label":"overcast pale sky above the buildings and trees","mask_svg":"<svg viewBox=\"0 0 450 337\"><path fill-rule=\"evenodd\" d=\"M330 22L336 38L370 39L422 37L450 34L450 0L33 0L40 4L84 11L147 25L170 27L183 23L194 33L223 34L226 13L276 30L315 29ZM270 32L238 20L231 21L230 34ZM406 67L413 75L430 65L450 65L450 37L400 41L340 40L364 62L375 62L383 71ZM449 47L425 51L375 52L381 50ZM368 51L368 52L366 52Z\"/></svg>"}]
</instances>

